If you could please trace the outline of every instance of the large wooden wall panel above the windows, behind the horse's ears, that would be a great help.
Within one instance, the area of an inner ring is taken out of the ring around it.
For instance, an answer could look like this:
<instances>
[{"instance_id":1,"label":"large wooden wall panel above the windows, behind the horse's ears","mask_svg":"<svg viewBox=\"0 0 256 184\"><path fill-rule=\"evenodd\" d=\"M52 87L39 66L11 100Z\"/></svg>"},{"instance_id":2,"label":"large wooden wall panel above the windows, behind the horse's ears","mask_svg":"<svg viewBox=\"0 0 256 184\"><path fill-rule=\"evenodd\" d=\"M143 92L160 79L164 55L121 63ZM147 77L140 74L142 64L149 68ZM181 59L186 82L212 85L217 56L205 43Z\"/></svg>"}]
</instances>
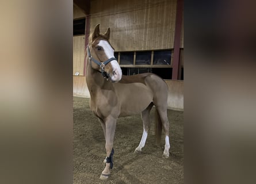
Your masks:
<instances>
[{"instance_id":1,"label":"large wooden wall panel above the windows, behind the horse's ears","mask_svg":"<svg viewBox=\"0 0 256 184\"><path fill-rule=\"evenodd\" d=\"M90 32L110 27L116 51L170 49L174 46L175 0L92 0Z\"/></svg>"}]
</instances>

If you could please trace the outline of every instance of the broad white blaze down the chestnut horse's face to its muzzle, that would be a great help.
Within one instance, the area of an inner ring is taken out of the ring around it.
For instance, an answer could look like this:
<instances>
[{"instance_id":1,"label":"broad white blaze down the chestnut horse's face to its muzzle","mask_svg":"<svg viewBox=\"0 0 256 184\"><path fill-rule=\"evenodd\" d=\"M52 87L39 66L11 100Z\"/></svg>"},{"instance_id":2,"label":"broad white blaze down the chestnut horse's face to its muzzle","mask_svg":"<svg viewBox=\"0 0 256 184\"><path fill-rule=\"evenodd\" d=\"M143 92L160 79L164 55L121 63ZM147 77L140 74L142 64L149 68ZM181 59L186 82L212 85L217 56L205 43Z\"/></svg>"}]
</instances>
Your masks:
<instances>
[{"instance_id":1,"label":"broad white blaze down the chestnut horse's face to its muzzle","mask_svg":"<svg viewBox=\"0 0 256 184\"><path fill-rule=\"evenodd\" d=\"M98 43L98 46L101 46L104 49L104 52L105 52L106 56L108 57L108 59L111 57L114 57L114 50L109 45L108 41L100 40L100 42ZM113 82L120 81L122 78L122 70L121 70L119 64L117 63L117 60L112 60L110 62L110 64L112 66L112 71L113 71L113 74L109 74L111 80Z\"/></svg>"}]
</instances>

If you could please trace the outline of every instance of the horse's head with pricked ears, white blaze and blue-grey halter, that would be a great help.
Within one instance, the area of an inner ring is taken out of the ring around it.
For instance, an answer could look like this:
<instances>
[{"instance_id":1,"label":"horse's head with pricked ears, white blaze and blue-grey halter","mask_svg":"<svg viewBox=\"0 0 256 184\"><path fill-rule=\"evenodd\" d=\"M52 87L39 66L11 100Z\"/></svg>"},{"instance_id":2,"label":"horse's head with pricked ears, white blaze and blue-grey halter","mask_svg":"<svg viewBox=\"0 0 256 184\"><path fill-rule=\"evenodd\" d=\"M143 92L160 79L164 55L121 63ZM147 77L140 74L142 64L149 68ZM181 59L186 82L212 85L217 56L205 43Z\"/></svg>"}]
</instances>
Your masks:
<instances>
[{"instance_id":1,"label":"horse's head with pricked ears, white blaze and blue-grey halter","mask_svg":"<svg viewBox=\"0 0 256 184\"><path fill-rule=\"evenodd\" d=\"M87 55L90 59L91 68L100 71L105 78L112 82L119 82L122 78L122 70L114 58L114 49L109 43L110 29L105 34L100 34L98 24L90 36ZM92 62L91 62L92 61Z\"/></svg>"}]
</instances>

